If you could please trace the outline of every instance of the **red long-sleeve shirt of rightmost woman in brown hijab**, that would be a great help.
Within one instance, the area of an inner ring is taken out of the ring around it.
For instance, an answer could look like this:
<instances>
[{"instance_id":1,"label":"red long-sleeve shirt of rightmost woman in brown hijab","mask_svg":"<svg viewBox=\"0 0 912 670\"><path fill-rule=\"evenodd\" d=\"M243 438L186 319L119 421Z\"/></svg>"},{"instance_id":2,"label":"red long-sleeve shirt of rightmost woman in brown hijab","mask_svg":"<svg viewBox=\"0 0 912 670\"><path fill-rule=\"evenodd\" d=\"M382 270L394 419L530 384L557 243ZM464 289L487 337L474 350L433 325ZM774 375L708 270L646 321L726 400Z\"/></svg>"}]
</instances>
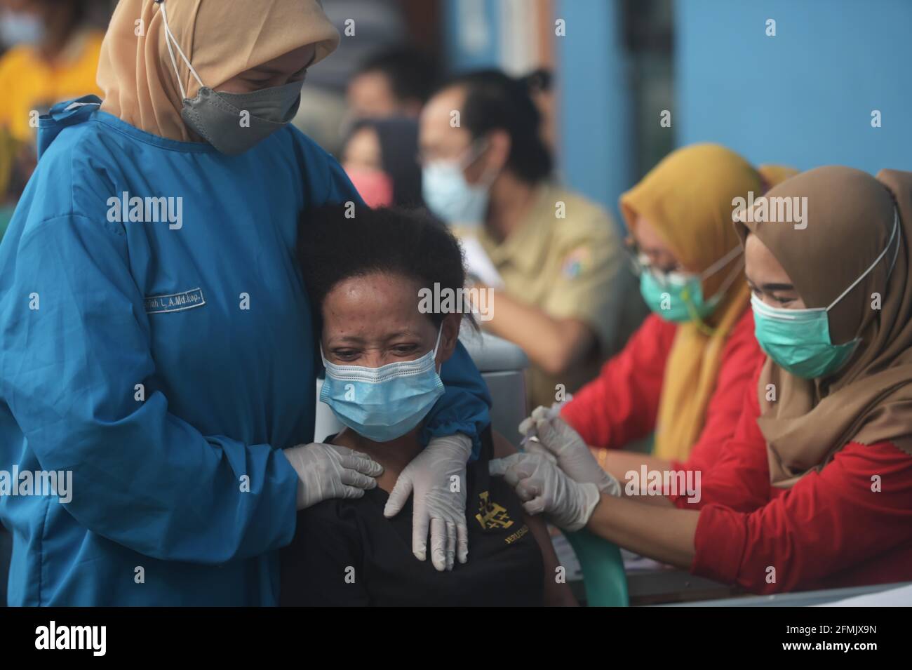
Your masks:
<instances>
[{"instance_id":1,"label":"red long-sleeve shirt of rightmost woman in brown hijab","mask_svg":"<svg viewBox=\"0 0 912 670\"><path fill-rule=\"evenodd\" d=\"M691 572L753 593L912 580L912 456L889 442L851 442L791 490L772 487L759 373L734 437L702 473L700 502L671 498L700 509Z\"/></svg>"}]
</instances>

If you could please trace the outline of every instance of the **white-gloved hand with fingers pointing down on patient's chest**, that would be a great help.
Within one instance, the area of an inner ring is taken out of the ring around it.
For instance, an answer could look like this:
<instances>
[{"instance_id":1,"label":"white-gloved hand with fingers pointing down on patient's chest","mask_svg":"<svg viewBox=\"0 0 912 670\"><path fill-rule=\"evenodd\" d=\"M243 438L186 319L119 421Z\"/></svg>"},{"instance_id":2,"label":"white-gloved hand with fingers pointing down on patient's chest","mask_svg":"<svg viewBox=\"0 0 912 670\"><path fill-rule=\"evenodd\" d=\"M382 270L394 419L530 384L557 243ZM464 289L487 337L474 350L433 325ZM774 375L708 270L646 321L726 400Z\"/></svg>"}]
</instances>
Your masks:
<instances>
[{"instance_id":1,"label":"white-gloved hand with fingers pointing down on patient's chest","mask_svg":"<svg viewBox=\"0 0 912 670\"><path fill-rule=\"evenodd\" d=\"M469 559L465 464L471 455L472 439L461 433L431 439L402 470L383 510L384 516L394 517L415 494L411 551L419 561L427 558L430 527L430 562L440 571L452 570L457 555L461 563ZM451 490L453 481L459 484L456 491Z\"/></svg>"}]
</instances>

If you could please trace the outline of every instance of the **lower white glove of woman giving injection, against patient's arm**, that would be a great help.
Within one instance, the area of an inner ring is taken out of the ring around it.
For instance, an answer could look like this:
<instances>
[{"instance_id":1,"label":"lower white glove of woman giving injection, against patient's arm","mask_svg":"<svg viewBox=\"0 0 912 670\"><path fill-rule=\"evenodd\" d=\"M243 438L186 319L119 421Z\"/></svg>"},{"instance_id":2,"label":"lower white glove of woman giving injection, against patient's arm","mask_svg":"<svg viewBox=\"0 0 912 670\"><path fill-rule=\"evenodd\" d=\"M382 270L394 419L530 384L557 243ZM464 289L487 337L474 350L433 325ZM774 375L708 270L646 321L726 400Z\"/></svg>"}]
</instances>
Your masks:
<instances>
[{"instance_id":1,"label":"lower white glove of woman giving injection, against patient's arm","mask_svg":"<svg viewBox=\"0 0 912 670\"><path fill-rule=\"evenodd\" d=\"M554 462L539 454L513 454L488 464L492 477L503 479L523 500L529 514L541 514L565 531L586 526L596 509L600 494L591 482L583 484L567 477Z\"/></svg>"}]
</instances>

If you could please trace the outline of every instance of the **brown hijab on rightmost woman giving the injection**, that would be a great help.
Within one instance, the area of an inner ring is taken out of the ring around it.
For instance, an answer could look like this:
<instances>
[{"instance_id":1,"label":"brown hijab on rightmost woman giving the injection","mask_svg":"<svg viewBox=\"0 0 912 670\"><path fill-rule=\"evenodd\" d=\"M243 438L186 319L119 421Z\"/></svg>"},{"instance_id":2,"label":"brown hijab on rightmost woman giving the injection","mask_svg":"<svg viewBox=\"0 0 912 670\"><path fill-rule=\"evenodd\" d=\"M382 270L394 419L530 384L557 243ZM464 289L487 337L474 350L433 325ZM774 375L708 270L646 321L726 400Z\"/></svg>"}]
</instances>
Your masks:
<instances>
[{"instance_id":1,"label":"brown hijab on rightmost woman giving the injection","mask_svg":"<svg viewBox=\"0 0 912 670\"><path fill-rule=\"evenodd\" d=\"M767 441L772 484L789 488L823 468L850 441L890 441L912 455L912 172L881 170L877 179L842 167L804 172L769 197L806 197L807 228L736 223L756 233L791 277L808 307L826 307L887 253L829 312L830 337L861 342L844 369L826 379L792 376L767 358L757 424ZM896 207L896 210L894 209ZM899 214L896 237L887 247ZM889 268L896 258L892 273ZM873 294L879 294L875 309ZM775 400L768 385L775 390Z\"/></svg>"}]
</instances>

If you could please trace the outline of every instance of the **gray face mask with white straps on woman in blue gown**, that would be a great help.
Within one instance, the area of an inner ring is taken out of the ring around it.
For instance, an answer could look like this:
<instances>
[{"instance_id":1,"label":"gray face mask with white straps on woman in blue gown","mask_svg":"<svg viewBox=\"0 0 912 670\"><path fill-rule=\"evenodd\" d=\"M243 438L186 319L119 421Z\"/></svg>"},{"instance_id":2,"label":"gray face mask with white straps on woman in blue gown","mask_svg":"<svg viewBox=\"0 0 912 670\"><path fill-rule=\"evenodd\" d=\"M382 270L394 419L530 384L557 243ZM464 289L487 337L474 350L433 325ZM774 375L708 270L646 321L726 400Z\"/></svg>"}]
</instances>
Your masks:
<instances>
[{"instance_id":1,"label":"gray face mask with white straps on woman in blue gown","mask_svg":"<svg viewBox=\"0 0 912 670\"><path fill-rule=\"evenodd\" d=\"M181 118L202 139L223 154L234 156L253 149L256 144L284 128L295 118L301 104L301 87L304 81L293 81L285 86L263 88L251 93L226 93L213 91L202 83L190 60L184 55L181 46L171 34L168 27L168 15L165 3L161 2L161 19L165 27L165 43L171 55L171 64L178 75L178 86L181 87L183 109ZM177 60L171 43L177 47L183 62L190 68L193 77L200 83L200 92L196 98L188 99L181 84L177 70Z\"/></svg>"}]
</instances>

